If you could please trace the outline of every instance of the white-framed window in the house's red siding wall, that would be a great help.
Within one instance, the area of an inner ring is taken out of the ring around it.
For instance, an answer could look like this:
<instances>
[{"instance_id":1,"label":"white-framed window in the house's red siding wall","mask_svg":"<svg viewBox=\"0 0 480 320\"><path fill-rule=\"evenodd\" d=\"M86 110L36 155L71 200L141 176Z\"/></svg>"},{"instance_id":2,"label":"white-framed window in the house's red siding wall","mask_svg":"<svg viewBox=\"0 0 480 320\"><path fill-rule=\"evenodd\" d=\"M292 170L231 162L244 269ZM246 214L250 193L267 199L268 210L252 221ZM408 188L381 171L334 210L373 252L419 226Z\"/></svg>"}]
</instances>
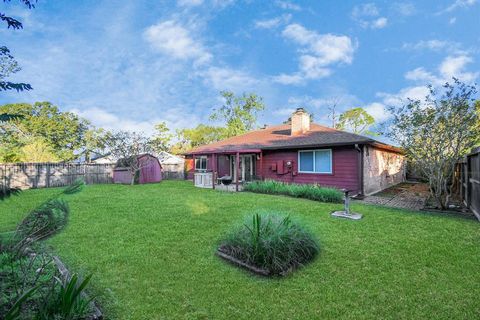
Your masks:
<instances>
[{"instance_id":1,"label":"white-framed window in the house's red siding wall","mask_svg":"<svg viewBox=\"0 0 480 320\"><path fill-rule=\"evenodd\" d=\"M332 173L332 150L298 151L298 172Z\"/></svg>"}]
</instances>

